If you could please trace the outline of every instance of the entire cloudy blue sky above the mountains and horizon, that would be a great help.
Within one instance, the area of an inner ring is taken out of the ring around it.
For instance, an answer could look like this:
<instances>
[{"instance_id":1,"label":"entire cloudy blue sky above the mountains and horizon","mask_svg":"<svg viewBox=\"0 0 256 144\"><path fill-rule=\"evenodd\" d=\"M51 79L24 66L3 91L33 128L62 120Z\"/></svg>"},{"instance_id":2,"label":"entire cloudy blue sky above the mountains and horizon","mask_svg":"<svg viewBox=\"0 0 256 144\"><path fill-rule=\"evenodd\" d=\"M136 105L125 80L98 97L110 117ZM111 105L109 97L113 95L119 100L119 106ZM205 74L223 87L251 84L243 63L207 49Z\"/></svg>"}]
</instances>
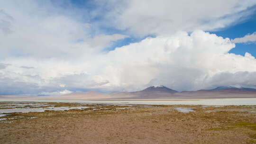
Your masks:
<instances>
[{"instance_id":1,"label":"entire cloudy blue sky above the mountains and horizon","mask_svg":"<svg viewBox=\"0 0 256 144\"><path fill-rule=\"evenodd\" d=\"M256 88L255 0L0 0L0 95Z\"/></svg>"}]
</instances>

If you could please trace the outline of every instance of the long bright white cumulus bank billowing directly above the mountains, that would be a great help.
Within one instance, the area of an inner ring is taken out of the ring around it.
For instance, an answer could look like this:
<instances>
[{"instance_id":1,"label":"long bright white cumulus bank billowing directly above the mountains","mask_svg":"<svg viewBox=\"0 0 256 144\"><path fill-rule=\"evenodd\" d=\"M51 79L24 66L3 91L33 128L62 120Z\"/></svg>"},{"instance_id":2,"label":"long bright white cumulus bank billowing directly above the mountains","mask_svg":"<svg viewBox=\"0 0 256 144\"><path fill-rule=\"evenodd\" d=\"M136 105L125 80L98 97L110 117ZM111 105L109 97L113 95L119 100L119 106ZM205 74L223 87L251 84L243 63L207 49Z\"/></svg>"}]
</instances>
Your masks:
<instances>
[{"instance_id":1,"label":"long bright white cumulus bank billowing directly above the mountains","mask_svg":"<svg viewBox=\"0 0 256 144\"><path fill-rule=\"evenodd\" d=\"M165 85L175 90L199 90L220 85L255 87L256 59L249 53L245 56L229 54L234 47L229 38L203 31L194 31L190 35L179 32L171 36L148 37L108 53L94 54L93 59L45 59L38 63L36 59L26 58L36 69L14 67L12 65L18 65L22 60L11 58L6 61L12 65L0 72L6 78L15 78L7 83L33 83L34 91L31 86L22 87L22 90L38 93L40 90L133 91L151 85Z\"/></svg>"}]
</instances>

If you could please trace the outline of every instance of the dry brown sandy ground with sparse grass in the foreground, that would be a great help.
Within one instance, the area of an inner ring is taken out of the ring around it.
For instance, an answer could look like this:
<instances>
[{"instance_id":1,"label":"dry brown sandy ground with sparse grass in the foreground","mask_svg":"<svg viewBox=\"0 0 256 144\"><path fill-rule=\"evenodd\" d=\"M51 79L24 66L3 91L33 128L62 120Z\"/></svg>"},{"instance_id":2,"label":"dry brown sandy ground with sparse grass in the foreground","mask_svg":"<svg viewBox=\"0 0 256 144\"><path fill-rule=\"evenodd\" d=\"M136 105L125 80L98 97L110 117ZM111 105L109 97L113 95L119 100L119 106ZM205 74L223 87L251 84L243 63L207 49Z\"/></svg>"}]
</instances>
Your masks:
<instances>
[{"instance_id":1,"label":"dry brown sandy ground with sparse grass in the foreground","mask_svg":"<svg viewBox=\"0 0 256 144\"><path fill-rule=\"evenodd\" d=\"M256 144L255 107L88 107L13 113L0 122L0 144Z\"/></svg>"}]
</instances>

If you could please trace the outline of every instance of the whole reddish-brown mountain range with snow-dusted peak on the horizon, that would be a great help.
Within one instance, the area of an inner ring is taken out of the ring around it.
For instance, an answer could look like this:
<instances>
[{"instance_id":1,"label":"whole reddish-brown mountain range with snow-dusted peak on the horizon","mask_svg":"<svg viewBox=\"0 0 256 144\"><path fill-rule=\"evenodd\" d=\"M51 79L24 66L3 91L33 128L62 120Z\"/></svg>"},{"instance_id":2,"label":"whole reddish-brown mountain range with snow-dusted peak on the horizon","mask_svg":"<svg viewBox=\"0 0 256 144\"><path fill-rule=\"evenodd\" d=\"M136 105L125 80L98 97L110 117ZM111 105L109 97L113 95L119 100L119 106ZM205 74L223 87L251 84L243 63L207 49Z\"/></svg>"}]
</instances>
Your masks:
<instances>
[{"instance_id":1,"label":"whole reddish-brown mountain range with snow-dusted peak on the horizon","mask_svg":"<svg viewBox=\"0 0 256 144\"><path fill-rule=\"evenodd\" d=\"M44 97L46 98L46 97ZM211 90L178 92L165 86L151 86L133 92L105 94L96 91L73 92L61 96L47 96L50 99L214 99L214 98L256 98L256 89L217 87Z\"/></svg>"}]
</instances>

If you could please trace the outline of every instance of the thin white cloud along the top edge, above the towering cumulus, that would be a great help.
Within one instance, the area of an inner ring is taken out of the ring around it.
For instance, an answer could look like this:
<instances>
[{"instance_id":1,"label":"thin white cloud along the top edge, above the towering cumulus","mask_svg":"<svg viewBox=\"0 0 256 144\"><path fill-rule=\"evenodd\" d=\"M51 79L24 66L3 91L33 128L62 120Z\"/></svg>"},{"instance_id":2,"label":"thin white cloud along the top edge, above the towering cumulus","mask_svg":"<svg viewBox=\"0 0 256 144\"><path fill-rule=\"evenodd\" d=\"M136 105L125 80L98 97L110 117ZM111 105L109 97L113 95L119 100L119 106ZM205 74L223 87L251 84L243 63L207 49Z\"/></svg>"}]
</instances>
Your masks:
<instances>
[{"instance_id":1,"label":"thin white cloud along the top edge, above the towering cumulus","mask_svg":"<svg viewBox=\"0 0 256 144\"><path fill-rule=\"evenodd\" d=\"M110 23L141 36L224 28L245 19L253 12L249 8L256 4L255 0L97 1Z\"/></svg>"}]
</instances>

